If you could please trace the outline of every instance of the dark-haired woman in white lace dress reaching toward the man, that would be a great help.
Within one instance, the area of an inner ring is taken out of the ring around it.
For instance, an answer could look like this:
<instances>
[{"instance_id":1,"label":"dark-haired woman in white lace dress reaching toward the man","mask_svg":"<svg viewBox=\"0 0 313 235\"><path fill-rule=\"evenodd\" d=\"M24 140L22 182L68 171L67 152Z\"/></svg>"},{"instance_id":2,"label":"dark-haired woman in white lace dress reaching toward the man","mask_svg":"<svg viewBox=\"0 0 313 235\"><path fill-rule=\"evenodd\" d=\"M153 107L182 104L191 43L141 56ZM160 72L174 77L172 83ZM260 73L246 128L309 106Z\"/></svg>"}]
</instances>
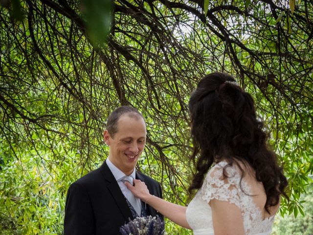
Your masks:
<instances>
[{"instance_id":1,"label":"dark-haired woman in white lace dress reaching toward the man","mask_svg":"<svg viewBox=\"0 0 313 235\"><path fill-rule=\"evenodd\" d=\"M127 187L144 202L195 235L269 235L288 185L268 149L252 97L233 77L206 75L189 100L196 174L188 207L157 198L143 182Z\"/></svg>"}]
</instances>

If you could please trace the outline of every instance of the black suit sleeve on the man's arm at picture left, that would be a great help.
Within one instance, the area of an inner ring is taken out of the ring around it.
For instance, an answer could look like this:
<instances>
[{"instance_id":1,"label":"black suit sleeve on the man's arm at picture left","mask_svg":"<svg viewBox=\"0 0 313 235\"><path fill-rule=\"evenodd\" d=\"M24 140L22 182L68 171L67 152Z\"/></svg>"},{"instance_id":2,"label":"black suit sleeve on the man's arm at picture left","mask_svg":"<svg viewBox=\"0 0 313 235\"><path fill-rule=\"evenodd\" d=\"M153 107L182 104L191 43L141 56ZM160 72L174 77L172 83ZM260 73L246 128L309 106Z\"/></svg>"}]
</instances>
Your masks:
<instances>
[{"instance_id":1,"label":"black suit sleeve on the man's arm at picture left","mask_svg":"<svg viewBox=\"0 0 313 235\"><path fill-rule=\"evenodd\" d=\"M67 191L64 235L94 235L95 221L86 188L78 183Z\"/></svg>"}]
</instances>

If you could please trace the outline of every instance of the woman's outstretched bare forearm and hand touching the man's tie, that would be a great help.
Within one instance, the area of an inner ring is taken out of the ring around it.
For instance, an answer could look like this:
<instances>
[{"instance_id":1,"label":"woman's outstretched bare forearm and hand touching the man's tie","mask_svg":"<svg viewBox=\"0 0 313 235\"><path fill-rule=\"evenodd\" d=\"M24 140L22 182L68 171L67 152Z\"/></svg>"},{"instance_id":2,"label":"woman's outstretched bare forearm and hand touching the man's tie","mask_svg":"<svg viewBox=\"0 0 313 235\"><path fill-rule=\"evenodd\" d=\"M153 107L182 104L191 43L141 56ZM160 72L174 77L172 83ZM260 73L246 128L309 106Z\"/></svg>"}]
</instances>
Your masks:
<instances>
[{"instance_id":1,"label":"woman's outstretched bare forearm and hand touching the man's tie","mask_svg":"<svg viewBox=\"0 0 313 235\"><path fill-rule=\"evenodd\" d=\"M160 212L179 226L191 229L186 220L186 207L167 202L159 197L151 195L145 183L140 180L134 180L134 186L128 182L126 182L125 185L136 197L152 206L156 211Z\"/></svg>"}]
</instances>

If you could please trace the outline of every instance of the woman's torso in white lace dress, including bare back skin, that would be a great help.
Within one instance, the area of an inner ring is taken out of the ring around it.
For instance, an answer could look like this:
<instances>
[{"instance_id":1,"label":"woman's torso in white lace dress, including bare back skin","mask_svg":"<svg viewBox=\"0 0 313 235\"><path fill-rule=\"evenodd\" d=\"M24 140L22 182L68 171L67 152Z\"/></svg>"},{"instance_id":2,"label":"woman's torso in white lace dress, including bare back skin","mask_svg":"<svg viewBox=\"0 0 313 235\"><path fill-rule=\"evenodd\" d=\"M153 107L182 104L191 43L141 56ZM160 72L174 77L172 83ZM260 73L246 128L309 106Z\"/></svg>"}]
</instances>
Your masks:
<instances>
[{"instance_id":1,"label":"woman's torso in white lace dress, including bare back skin","mask_svg":"<svg viewBox=\"0 0 313 235\"><path fill-rule=\"evenodd\" d=\"M226 161L215 164L207 173L202 187L188 205L186 216L195 235L213 235L211 200L235 204L241 211L245 234L269 235L274 215L279 208L265 212L266 194L262 183L257 182L253 171ZM225 177L225 175L227 177Z\"/></svg>"}]
</instances>

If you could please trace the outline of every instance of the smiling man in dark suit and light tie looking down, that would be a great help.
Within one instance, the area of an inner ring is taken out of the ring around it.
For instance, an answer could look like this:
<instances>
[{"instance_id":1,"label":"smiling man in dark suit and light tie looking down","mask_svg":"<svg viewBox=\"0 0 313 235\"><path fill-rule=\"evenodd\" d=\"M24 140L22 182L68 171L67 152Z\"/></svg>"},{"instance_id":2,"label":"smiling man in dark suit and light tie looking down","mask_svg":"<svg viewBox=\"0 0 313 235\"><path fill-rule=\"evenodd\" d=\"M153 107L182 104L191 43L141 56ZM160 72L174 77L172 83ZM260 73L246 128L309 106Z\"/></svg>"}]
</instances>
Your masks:
<instances>
[{"instance_id":1,"label":"smiling man in dark suit and light tie looking down","mask_svg":"<svg viewBox=\"0 0 313 235\"><path fill-rule=\"evenodd\" d=\"M121 106L112 112L106 128L103 137L109 157L68 188L64 235L119 235L129 219L158 214L125 186L126 181L133 184L139 179L150 193L162 197L159 183L135 170L146 142L143 116L133 107Z\"/></svg>"}]
</instances>

